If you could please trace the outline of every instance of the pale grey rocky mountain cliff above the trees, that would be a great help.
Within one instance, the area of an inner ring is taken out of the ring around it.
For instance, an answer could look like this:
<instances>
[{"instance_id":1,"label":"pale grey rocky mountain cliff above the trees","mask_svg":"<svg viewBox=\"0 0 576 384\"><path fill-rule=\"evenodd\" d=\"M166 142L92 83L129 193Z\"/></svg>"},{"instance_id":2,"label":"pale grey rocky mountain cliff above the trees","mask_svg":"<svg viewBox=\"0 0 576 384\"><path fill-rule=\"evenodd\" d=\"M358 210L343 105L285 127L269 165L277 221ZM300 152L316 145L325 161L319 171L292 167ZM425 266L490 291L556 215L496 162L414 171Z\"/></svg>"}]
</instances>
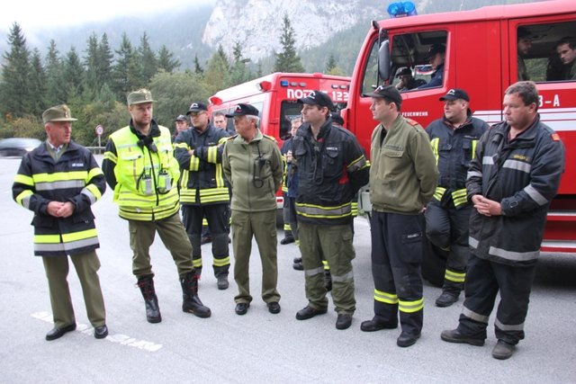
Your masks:
<instances>
[{"instance_id":1,"label":"pale grey rocky mountain cliff above the trees","mask_svg":"<svg viewBox=\"0 0 576 384\"><path fill-rule=\"evenodd\" d=\"M239 42L242 55L257 61L281 49L284 13L295 32L296 48L310 49L357 22L384 17L382 0L220 0L203 31L202 42L231 53ZM366 27L367 28L367 27Z\"/></svg>"}]
</instances>

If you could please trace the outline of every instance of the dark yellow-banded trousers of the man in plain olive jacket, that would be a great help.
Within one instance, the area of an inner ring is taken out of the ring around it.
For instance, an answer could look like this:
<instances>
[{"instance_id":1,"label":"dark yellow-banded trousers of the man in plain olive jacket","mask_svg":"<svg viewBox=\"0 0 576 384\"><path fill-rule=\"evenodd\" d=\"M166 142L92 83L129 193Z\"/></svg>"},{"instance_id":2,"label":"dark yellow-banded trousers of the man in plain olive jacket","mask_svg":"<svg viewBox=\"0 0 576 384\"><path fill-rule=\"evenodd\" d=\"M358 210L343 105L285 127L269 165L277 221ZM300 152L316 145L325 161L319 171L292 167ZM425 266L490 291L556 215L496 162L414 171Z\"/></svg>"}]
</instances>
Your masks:
<instances>
[{"instance_id":1,"label":"dark yellow-banded trousers of the man in plain olive jacket","mask_svg":"<svg viewBox=\"0 0 576 384\"><path fill-rule=\"evenodd\" d=\"M424 317L422 297L422 228L419 215L383 213L371 218L375 320L419 335Z\"/></svg>"}]
</instances>

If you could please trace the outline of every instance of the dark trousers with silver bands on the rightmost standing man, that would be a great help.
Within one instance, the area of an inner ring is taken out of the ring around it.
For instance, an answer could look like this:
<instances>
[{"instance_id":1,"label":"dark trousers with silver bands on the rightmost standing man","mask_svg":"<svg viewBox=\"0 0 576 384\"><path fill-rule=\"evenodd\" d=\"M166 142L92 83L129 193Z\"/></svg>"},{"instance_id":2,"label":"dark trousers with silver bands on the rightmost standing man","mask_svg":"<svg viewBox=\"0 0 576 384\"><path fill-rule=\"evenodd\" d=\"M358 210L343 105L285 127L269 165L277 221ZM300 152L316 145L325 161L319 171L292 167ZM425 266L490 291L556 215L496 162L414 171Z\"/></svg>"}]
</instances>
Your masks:
<instances>
[{"instance_id":1,"label":"dark trousers with silver bands on the rightmost standing man","mask_svg":"<svg viewBox=\"0 0 576 384\"><path fill-rule=\"evenodd\" d=\"M496 337L518 344L524 338L524 320L535 275L536 265L511 266L471 255L458 330L463 335L485 339L488 319L500 290L494 320Z\"/></svg>"}]
</instances>

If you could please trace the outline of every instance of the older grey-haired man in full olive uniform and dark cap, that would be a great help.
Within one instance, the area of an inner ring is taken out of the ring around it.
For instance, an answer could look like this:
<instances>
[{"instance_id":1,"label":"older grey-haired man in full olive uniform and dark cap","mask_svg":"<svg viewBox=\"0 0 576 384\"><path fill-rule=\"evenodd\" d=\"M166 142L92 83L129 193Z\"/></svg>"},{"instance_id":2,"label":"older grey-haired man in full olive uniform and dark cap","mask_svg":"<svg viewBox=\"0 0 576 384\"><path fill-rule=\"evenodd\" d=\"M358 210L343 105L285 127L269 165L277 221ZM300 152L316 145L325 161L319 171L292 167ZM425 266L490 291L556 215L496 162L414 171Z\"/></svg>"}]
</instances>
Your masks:
<instances>
[{"instance_id":1,"label":"older grey-haired man in full olive uniform and dark cap","mask_svg":"<svg viewBox=\"0 0 576 384\"><path fill-rule=\"evenodd\" d=\"M252 301L248 274L252 237L256 237L262 260L262 299L270 313L280 312L280 294L276 290L278 264L276 257L276 197L282 183L284 165L275 138L258 129L258 110L249 104L238 104L226 115L234 119L238 135L224 144L222 168L232 186L232 249L234 280L238 284L236 313L245 315Z\"/></svg>"}]
</instances>

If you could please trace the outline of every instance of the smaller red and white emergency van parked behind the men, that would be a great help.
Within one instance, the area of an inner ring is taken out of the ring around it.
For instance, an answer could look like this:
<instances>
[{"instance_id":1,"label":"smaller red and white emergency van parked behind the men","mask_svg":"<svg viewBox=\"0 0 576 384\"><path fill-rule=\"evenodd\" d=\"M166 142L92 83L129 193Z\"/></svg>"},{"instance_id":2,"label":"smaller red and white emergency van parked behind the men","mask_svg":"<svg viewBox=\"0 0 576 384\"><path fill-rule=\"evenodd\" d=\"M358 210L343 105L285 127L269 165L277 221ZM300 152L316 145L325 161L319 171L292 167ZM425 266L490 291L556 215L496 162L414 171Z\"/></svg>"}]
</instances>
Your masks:
<instances>
[{"instance_id":1,"label":"smaller red and white emergency van parked behind the men","mask_svg":"<svg viewBox=\"0 0 576 384\"><path fill-rule=\"evenodd\" d=\"M274 136L282 146L283 140L290 135L291 121L301 114L302 104L297 99L320 90L329 94L338 109L342 109L348 101L349 86L349 77L274 73L219 91L211 96L208 112L213 118L216 112L233 112L238 103L254 105L260 111L262 132ZM231 119L227 129L234 131ZM281 209L282 192L278 192L276 201Z\"/></svg>"}]
</instances>

